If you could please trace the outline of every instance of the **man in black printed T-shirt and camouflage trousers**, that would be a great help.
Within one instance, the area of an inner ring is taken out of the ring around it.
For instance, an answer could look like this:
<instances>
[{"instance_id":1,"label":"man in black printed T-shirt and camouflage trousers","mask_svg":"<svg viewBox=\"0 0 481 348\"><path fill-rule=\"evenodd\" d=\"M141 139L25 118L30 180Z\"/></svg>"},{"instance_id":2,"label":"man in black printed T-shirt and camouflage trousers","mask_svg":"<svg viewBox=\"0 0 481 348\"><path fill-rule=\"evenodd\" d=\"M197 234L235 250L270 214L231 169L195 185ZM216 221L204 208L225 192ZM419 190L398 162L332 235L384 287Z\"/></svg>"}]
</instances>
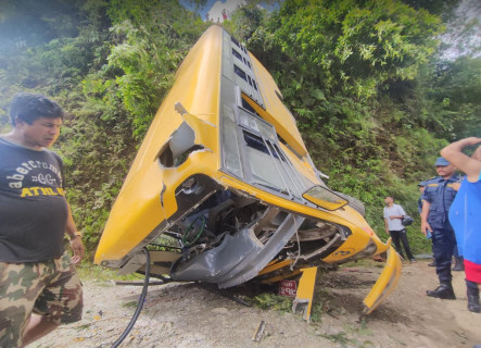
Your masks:
<instances>
[{"instance_id":1,"label":"man in black printed T-shirt and camouflage trousers","mask_svg":"<svg viewBox=\"0 0 481 348\"><path fill-rule=\"evenodd\" d=\"M73 264L85 249L65 199L63 162L47 149L63 114L45 96L17 94L10 107L13 130L0 136L0 347L26 346L81 319Z\"/></svg>"}]
</instances>

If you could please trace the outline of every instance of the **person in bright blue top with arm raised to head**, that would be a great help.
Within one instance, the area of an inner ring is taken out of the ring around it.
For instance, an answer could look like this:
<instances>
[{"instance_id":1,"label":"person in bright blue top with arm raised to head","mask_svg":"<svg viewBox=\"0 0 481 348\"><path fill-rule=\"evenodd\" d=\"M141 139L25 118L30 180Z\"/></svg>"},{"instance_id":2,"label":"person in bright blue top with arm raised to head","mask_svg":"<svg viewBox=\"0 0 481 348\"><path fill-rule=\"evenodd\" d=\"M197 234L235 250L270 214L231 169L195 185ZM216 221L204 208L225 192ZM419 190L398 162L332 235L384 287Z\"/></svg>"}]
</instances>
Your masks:
<instances>
[{"instance_id":1,"label":"person in bright blue top with arm raised to head","mask_svg":"<svg viewBox=\"0 0 481 348\"><path fill-rule=\"evenodd\" d=\"M451 206L450 221L456 232L459 254L464 256L468 310L481 312L481 146L469 158L463 153L468 146L481 144L470 137L453 142L441 154L466 174Z\"/></svg>"}]
</instances>

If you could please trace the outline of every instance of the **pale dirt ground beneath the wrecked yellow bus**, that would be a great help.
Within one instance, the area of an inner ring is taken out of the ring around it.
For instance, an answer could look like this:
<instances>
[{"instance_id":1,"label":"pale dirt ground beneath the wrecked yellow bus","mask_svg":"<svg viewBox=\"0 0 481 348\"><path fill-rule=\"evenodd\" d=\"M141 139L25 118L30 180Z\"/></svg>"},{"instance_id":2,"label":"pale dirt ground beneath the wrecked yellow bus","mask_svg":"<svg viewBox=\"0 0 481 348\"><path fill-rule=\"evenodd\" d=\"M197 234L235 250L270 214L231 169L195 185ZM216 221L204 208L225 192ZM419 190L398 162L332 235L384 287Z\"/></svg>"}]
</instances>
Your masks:
<instances>
[{"instance_id":1,"label":"pale dirt ground beneath the wrecked yellow bus","mask_svg":"<svg viewBox=\"0 0 481 348\"><path fill-rule=\"evenodd\" d=\"M397 289L366 320L362 300L382 271L351 265L322 274L316 287L320 321L245 307L197 284L149 287L140 316L121 347L473 347L481 314L467 310L463 272L454 273L456 300L428 298L438 285L430 260L405 263ZM30 347L111 347L134 314L141 287L87 279L80 322L61 326ZM315 303L316 304L316 303ZM266 323L260 341L252 337Z\"/></svg>"}]
</instances>

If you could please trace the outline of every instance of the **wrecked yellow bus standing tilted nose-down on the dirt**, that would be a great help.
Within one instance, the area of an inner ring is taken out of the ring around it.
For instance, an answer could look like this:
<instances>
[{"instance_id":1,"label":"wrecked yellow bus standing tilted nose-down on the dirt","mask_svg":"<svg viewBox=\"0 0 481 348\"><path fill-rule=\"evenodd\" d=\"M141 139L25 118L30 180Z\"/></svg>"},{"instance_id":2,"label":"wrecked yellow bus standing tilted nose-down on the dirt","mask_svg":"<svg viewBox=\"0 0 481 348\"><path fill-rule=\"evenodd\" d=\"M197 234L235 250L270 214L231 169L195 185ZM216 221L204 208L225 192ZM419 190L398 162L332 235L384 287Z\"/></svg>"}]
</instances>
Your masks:
<instances>
[{"instance_id":1,"label":"wrecked yellow bus standing tilted nose-down on the dirt","mask_svg":"<svg viewBox=\"0 0 481 348\"><path fill-rule=\"evenodd\" d=\"M401 260L316 170L267 70L218 25L180 65L112 208L94 262L219 288L275 283L387 253L364 300L396 286Z\"/></svg>"}]
</instances>

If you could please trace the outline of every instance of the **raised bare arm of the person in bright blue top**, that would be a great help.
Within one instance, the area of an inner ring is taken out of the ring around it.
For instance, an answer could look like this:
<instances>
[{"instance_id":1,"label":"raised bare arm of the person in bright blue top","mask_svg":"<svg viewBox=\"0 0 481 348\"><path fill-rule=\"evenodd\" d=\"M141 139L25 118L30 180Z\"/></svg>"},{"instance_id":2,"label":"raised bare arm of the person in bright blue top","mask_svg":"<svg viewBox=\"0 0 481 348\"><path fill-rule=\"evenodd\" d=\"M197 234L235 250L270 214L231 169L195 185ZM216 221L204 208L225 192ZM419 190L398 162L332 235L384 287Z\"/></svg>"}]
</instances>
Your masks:
<instances>
[{"instance_id":1,"label":"raised bare arm of the person in bright blue top","mask_svg":"<svg viewBox=\"0 0 481 348\"><path fill-rule=\"evenodd\" d=\"M481 171L481 162L463 153L463 149L481 142L481 138L470 137L450 144L441 150L441 156L463 171L468 182L476 183Z\"/></svg>"}]
</instances>

